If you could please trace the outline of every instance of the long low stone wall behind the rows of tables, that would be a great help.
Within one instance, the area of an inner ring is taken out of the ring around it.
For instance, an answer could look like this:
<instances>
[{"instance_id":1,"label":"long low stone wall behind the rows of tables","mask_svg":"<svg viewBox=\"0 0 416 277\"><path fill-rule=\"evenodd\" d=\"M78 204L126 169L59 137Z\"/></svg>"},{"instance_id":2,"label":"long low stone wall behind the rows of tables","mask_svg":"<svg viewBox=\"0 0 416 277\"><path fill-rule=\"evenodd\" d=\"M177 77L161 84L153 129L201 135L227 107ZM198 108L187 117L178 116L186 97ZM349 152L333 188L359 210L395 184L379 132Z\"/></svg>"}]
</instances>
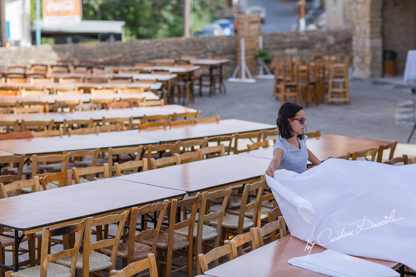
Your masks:
<instances>
[{"instance_id":1,"label":"long low stone wall behind the rows of tables","mask_svg":"<svg viewBox=\"0 0 416 277\"><path fill-rule=\"evenodd\" d=\"M352 35L348 29L291 31L263 34L264 49L285 57L291 54L302 59L318 55L352 56ZM123 60L144 62L182 55L207 58L221 56L231 59L224 68L226 77L232 75L236 62L235 37L193 37L168 39L139 39L131 42L96 42L82 44L41 45L31 48L0 48L0 70L12 64L54 64L58 59Z\"/></svg>"}]
</instances>

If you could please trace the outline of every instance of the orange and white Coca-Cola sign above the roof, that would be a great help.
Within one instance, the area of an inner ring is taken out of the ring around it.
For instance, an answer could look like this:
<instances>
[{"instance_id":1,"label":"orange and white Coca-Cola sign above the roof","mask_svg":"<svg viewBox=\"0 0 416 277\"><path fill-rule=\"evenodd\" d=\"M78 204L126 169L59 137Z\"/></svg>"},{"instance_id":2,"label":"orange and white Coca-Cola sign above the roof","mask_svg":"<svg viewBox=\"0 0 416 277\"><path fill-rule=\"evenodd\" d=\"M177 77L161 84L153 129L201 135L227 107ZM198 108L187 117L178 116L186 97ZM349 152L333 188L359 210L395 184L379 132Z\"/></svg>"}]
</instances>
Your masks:
<instances>
[{"instance_id":1,"label":"orange and white Coca-Cola sign above the roof","mask_svg":"<svg viewBox=\"0 0 416 277\"><path fill-rule=\"evenodd\" d=\"M45 27L81 23L81 0L42 0L42 10Z\"/></svg>"}]
</instances>

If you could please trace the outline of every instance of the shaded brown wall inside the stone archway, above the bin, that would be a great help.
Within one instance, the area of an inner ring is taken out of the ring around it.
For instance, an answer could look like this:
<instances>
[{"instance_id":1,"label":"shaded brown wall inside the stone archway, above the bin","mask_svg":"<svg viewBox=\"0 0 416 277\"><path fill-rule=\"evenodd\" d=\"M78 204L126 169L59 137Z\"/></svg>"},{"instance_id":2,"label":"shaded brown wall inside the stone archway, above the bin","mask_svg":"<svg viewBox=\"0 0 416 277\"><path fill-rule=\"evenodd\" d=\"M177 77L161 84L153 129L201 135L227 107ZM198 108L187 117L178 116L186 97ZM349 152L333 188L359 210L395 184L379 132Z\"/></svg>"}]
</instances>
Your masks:
<instances>
[{"instance_id":1,"label":"shaded brown wall inside the stone archway, above the bin","mask_svg":"<svg viewBox=\"0 0 416 277\"><path fill-rule=\"evenodd\" d=\"M416 48L416 2L383 1L383 49L397 52L397 74L403 74L407 51Z\"/></svg>"}]
</instances>

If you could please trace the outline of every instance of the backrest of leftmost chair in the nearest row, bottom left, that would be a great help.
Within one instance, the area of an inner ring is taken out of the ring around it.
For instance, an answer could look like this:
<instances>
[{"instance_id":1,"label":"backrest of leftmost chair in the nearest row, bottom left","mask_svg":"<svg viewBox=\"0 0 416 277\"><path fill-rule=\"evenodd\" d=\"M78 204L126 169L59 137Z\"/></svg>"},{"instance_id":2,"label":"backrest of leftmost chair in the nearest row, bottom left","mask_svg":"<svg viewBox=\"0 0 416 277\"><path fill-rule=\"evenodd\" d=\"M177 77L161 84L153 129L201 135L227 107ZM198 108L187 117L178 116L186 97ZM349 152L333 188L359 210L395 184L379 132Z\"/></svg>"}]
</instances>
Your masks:
<instances>
[{"instance_id":1,"label":"backrest of leftmost chair in the nearest row, bottom left","mask_svg":"<svg viewBox=\"0 0 416 277\"><path fill-rule=\"evenodd\" d=\"M47 263L53 262L56 260L64 259L72 256L71 260L71 275L72 277L76 276L77 273L77 258L79 247L81 245L82 236L84 235L85 228L85 219L79 223L70 224L67 226L57 227L49 229L49 227L43 228L42 232L42 247L40 248L40 277L47 277ZM48 255L48 249L50 249L49 238L69 235L72 233L77 233L75 238L74 247L71 249L65 249L53 254Z\"/></svg>"}]
</instances>

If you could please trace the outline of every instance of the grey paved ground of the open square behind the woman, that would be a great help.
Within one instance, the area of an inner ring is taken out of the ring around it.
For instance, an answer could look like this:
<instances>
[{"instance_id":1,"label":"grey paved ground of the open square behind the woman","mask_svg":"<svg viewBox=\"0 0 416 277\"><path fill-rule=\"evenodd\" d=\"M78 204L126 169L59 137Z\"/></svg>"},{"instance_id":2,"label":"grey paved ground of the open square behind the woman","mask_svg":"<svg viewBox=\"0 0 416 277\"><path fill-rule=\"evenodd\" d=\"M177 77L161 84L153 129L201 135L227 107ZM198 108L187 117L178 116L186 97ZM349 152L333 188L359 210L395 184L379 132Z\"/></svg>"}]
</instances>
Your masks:
<instances>
[{"instance_id":1,"label":"grey paved ground of the open square behind the woman","mask_svg":"<svg viewBox=\"0 0 416 277\"><path fill-rule=\"evenodd\" d=\"M416 156L416 145L406 141L412 125L398 125L395 120L396 104L405 100L416 100L409 86L384 83L390 80L350 81L351 103L326 103L304 107L307 129L321 130L321 134L338 134L369 139L399 142L399 156ZM220 115L221 119L238 118L262 123L276 124L280 101L272 96L273 80L258 80L255 84L228 83L226 95L215 94L208 98L196 96L191 108L200 109L201 117ZM196 93L197 94L197 93ZM416 144L416 134L411 140ZM401 150L403 149L403 150ZM408 152L406 152L408 151ZM396 156L396 155L395 155Z\"/></svg>"}]
</instances>

